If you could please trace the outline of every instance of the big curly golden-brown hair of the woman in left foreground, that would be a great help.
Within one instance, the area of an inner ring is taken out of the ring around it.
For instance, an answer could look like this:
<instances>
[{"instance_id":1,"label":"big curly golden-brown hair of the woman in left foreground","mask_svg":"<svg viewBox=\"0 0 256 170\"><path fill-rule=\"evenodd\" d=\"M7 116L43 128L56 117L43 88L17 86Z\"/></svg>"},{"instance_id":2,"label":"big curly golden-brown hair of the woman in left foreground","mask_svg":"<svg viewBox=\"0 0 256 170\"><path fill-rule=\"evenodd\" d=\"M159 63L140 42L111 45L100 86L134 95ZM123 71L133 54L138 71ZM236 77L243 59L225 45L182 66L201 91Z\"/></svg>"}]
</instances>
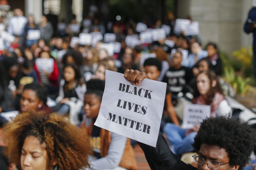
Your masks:
<instances>
[{"instance_id":1,"label":"big curly golden-brown hair of the woman in left foreground","mask_svg":"<svg viewBox=\"0 0 256 170\"><path fill-rule=\"evenodd\" d=\"M43 112L19 114L3 127L3 132L9 144L5 154L19 168L23 143L29 136L34 136L41 144L46 144L49 160L56 159L61 170L89 167L89 137L60 115L45 115Z\"/></svg>"}]
</instances>

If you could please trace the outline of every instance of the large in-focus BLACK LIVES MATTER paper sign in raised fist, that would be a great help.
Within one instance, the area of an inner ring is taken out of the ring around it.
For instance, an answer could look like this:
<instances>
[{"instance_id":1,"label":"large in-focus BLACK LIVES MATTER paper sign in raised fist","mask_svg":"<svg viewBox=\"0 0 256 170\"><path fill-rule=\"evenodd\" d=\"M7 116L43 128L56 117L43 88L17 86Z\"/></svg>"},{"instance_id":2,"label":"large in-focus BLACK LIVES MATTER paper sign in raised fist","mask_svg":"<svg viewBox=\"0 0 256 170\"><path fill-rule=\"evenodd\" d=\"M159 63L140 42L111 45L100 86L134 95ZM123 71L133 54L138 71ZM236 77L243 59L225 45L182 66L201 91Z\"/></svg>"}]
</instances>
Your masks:
<instances>
[{"instance_id":1,"label":"large in-focus BLACK LIVES MATTER paper sign in raised fist","mask_svg":"<svg viewBox=\"0 0 256 170\"><path fill-rule=\"evenodd\" d=\"M105 90L94 125L156 147L166 83L144 79L139 86L106 70Z\"/></svg>"}]
</instances>

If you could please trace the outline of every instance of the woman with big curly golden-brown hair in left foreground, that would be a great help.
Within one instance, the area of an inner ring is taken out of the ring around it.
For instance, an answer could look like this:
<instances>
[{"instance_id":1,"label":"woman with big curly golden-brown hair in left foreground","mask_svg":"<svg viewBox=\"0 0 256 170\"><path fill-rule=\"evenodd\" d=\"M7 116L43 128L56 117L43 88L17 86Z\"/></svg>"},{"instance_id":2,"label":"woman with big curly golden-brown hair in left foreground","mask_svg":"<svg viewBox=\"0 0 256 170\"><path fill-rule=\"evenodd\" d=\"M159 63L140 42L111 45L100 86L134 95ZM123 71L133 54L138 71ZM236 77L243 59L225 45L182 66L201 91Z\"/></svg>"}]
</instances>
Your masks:
<instances>
[{"instance_id":1,"label":"woman with big curly golden-brown hair in left foreground","mask_svg":"<svg viewBox=\"0 0 256 170\"><path fill-rule=\"evenodd\" d=\"M3 128L6 155L23 170L79 170L89 167L88 136L56 114L19 114Z\"/></svg>"}]
</instances>

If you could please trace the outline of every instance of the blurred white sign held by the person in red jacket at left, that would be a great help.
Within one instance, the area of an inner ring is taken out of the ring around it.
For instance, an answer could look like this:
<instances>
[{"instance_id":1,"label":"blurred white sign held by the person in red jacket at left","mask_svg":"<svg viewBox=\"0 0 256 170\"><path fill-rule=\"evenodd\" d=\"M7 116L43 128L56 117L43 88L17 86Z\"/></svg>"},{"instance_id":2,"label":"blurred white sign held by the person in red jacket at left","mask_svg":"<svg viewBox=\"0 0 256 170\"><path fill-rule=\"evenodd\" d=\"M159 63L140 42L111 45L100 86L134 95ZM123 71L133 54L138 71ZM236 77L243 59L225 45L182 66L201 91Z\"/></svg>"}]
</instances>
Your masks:
<instances>
[{"instance_id":1,"label":"blurred white sign held by the person in red jacket at left","mask_svg":"<svg viewBox=\"0 0 256 170\"><path fill-rule=\"evenodd\" d=\"M39 72L46 71L47 73L52 73L53 71L53 58L37 58L35 59L35 65Z\"/></svg>"}]
</instances>

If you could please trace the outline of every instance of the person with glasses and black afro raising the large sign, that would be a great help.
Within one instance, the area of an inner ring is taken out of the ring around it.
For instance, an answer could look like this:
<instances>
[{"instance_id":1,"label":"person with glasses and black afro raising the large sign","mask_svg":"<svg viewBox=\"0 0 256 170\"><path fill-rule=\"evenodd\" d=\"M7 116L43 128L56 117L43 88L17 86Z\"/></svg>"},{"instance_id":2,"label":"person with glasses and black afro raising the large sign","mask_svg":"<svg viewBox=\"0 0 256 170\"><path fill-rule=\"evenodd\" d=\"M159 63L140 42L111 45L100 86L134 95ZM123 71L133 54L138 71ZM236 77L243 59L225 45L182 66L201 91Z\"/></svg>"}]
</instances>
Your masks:
<instances>
[{"instance_id":1,"label":"person with glasses and black afro raising the large sign","mask_svg":"<svg viewBox=\"0 0 256 170\"><path fill-rule=\"evenodd\" d=\"M150 79L147 74L137 70L126 70L124 78L138 86L143 79ZM198 153L193 156L194 162L199 170L242 170L250 160L254 138L254 131L246 122L224 115L207 118L194 138L193 147ZM156 147L139 144L151 170L197 170L171 152L161 133Z\"/></svg>"}]
</instances>

